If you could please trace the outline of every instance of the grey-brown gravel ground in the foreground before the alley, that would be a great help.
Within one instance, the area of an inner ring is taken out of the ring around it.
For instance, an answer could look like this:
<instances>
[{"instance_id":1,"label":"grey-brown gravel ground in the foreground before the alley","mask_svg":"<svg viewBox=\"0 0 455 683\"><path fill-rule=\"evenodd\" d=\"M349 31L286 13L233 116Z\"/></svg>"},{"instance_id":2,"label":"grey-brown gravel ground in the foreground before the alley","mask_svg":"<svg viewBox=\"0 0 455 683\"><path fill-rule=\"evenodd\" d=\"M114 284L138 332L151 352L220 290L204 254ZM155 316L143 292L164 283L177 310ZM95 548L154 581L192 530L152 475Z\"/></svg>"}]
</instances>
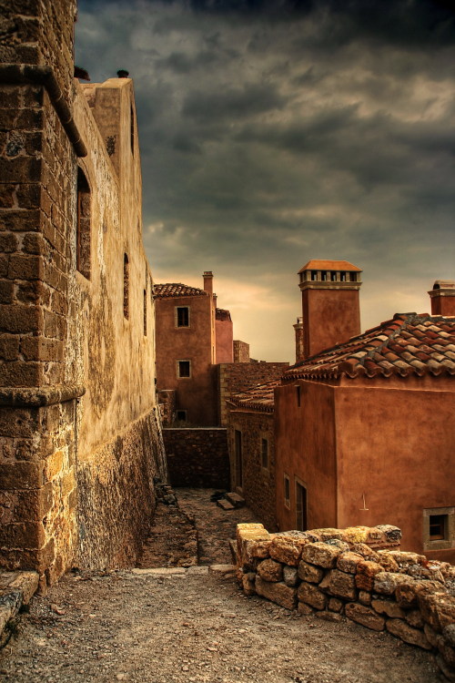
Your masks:
<instances>
[{"instance_id":1,"label":"grey-brown gravel ground in the foreground before the alley","mask_svg":"<svg viewBox=\"0 0 455 683\"><path fill-rule=\"evenodd\" d=\"M433 683L432 658L351 622L298 617L205 576L66 576L21 617L7 683Z\"/></svg>"}]
</instances>

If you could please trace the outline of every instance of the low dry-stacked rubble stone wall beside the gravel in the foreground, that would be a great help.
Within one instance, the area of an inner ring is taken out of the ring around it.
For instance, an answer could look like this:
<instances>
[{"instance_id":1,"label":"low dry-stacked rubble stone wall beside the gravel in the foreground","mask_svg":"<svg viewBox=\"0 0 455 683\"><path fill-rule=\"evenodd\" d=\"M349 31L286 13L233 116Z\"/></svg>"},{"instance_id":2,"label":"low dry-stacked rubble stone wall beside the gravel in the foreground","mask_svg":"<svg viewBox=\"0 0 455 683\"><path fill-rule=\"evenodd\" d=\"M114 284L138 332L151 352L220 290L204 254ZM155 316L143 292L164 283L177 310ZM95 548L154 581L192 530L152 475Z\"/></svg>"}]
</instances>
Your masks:
<instances>
[{"instance_id":1,"label":"low dry-stacked rubble stone wall beside the gravel in the foreground","mask_svg":"<svg viewBox=\"0 0 455 683\"><path fill-rule=\"evenodd\" d=\"M248 596L433 651L455 681L455 566L400 551L400 537L390 525L279 534L238 525L238 581Z\"/></svg>"}]
</instances>

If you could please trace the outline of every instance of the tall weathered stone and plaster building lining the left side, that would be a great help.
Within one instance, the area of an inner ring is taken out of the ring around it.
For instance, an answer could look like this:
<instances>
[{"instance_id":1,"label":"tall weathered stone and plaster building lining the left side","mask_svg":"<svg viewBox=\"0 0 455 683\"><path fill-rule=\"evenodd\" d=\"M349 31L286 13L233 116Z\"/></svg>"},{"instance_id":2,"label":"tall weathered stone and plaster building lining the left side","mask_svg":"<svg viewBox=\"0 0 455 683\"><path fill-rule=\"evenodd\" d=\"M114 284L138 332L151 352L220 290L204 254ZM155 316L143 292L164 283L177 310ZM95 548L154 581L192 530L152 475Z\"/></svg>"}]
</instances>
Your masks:
<instances>
[{"instance_id":1,"label":"tall weathered stone and plaster building lining the left side","mask_svg":"<svg viewBox=\"0 0 455 683\"><path fill-rule=\"evenodd\" d=\"M0 566L134 564L165 475L129 78L73 77L73 0L0 53Z\"/></svg>"}]
</instances>

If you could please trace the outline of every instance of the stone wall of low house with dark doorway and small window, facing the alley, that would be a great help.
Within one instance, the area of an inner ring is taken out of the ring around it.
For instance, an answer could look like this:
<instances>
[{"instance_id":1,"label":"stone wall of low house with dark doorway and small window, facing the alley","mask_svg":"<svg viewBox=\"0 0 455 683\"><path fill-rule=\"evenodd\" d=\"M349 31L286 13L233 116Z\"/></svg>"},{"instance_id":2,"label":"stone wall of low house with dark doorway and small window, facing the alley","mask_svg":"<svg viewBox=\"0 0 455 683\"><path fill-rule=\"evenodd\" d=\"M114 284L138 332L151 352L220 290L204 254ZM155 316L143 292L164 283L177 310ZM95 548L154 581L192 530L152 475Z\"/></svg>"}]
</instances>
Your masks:
<instances>
[{"instance_id":1,"label":"stone wall of low house with dark doorway and small window, facing the alley","mask_svg":"<svg viewBox=\"0 0 455 683\"><path fill-rule=\"evenodd\" d=\"M269 529L277 528L275 443L273 413L228 412L227 438L231 472L231 491L236 490L235 432L242 434L241 493L248 507ZM268 443L268 466L262 466L262 440Z\"/></svg>"}]
</instances>

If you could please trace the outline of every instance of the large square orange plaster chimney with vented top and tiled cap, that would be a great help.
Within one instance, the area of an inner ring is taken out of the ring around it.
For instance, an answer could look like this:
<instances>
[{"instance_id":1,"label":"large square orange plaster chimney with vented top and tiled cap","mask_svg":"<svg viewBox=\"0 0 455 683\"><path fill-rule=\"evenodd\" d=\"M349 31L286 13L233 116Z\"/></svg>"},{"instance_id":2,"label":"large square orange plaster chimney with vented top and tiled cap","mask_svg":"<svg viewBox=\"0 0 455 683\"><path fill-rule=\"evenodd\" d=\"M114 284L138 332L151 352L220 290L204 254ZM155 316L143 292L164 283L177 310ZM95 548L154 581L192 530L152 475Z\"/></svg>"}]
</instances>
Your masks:
<instances>
[{"instance_id":1,"label":"large square orange plaster chimney with vented top and tiled cap","mask_svg":"<svg viewBox=\"0 0 455 683\"><path fill-rule=\"evenodd\" d=\"M305 358L360 333L361 272L346 260L309 260L298 271Z\"/></svg>"}]
</instances>

